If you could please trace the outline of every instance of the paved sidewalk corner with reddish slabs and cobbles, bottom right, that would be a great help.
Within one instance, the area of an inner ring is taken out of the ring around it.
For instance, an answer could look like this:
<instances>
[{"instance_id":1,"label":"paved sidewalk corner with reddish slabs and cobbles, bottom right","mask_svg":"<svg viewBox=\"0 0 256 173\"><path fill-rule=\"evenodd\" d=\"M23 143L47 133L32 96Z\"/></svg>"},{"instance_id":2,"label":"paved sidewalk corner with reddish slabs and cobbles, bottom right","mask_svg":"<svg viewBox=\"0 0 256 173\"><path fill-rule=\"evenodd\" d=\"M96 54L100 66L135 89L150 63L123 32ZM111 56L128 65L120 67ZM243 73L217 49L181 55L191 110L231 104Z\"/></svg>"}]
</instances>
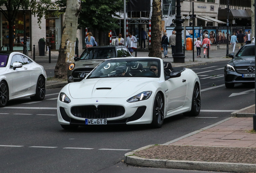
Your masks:
<instances>
[{"instance_id":1,"label":"paved sidewalk corner with reddish slabs and cobbles, bottom right","mask_svg":"<svg viewBox=\"0 0 256 173\"><path fill-rule=\"evenodd\" d=\"M204 171L256 172L256 133L253 129L255 105L232 113L233 116L165 143L126 153L126 163ZM130 156L129 156L130 155Z\"/></svg>"}]
</instances>

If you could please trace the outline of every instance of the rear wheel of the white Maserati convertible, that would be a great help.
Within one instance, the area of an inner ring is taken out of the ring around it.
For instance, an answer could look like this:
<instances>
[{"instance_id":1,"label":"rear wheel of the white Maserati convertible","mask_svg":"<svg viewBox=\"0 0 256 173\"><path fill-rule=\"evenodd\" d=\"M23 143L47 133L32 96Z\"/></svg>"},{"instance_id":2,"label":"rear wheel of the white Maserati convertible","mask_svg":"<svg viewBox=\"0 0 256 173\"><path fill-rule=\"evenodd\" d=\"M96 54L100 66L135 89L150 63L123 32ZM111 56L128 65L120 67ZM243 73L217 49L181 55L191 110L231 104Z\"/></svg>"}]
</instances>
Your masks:
<instances>
[{"instance_id":1,"label":"rear wheel of the white Maserati convertible","mask_svg":"<svg viewBox=\"0 0 256 173\"><path fill-rule=\"evenodd\" d=\"M192 95L192 104L191 111L187 113L183 113L185 116L197 116L200 113L201 109L201 97L198 84L195 84L193 95Z\"/></svg>"}]
</instances>

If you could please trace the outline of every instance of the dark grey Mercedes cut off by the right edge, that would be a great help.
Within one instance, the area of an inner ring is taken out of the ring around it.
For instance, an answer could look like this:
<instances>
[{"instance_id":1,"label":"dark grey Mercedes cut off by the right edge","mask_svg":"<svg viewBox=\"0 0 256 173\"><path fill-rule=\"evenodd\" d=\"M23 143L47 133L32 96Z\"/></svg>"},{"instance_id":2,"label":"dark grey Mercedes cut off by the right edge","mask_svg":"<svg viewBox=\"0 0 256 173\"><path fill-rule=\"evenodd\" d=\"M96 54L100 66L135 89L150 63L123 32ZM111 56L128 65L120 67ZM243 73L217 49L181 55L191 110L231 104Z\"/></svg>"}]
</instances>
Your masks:
<instances>
[{"instance_id":1,"label":"dark grey Mercedes cut off by the right edge","mask_svg":"<svg viewBox=\"0 0 256 173\"><path fill-rule=\"evenodd\" d=\"M226 88L233 88L237 83L255 82L255 47L246 44L227 63L224 70Z\"/></svg>"}]
</instances>

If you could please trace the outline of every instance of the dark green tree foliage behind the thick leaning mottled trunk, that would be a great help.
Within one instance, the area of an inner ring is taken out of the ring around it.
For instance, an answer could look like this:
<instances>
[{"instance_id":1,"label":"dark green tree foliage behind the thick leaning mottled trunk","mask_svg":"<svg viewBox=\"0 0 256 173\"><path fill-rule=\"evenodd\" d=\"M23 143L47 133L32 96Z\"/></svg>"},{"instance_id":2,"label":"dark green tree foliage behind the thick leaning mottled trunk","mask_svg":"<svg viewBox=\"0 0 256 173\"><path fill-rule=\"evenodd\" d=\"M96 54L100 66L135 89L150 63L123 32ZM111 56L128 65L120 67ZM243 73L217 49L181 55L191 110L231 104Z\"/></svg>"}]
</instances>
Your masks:
<instances>
[{"instance_id":1,"label":"dark green tree foliage behind the thick leaning mottled trunk","mask_svg":"<svg viewBox=\"0 0 256 173\"><path fill-rule=\"evenodd\" d=\"M61 12L65 12L66 0L58 0L56 4ZM78 28L89 27L101 31L119 28L117 21L120 16L116 12L123 10L123 7L124 0L81 0Z\"/></svg>"}]
</instances>

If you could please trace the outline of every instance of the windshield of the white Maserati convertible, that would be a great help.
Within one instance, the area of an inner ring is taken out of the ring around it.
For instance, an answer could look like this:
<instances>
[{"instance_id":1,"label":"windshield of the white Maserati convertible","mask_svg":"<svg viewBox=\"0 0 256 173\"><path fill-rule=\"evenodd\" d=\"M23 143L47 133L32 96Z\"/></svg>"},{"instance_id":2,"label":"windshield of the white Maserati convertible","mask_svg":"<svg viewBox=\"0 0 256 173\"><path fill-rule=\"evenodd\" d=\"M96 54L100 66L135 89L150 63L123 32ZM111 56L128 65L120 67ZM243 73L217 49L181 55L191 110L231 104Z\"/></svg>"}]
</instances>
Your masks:
<instances>
[{"instance_id":1,"label":"windshield of the white Maserati convertible","mask_svg":"<svg viewBox=\"0 0 256 173\"><path fill-rule=\"evenodd\" d=\"M107 77L160 77L160 60L153 58L105 60L97 66L88 78Z\"/></svg>"}]
</instances>

